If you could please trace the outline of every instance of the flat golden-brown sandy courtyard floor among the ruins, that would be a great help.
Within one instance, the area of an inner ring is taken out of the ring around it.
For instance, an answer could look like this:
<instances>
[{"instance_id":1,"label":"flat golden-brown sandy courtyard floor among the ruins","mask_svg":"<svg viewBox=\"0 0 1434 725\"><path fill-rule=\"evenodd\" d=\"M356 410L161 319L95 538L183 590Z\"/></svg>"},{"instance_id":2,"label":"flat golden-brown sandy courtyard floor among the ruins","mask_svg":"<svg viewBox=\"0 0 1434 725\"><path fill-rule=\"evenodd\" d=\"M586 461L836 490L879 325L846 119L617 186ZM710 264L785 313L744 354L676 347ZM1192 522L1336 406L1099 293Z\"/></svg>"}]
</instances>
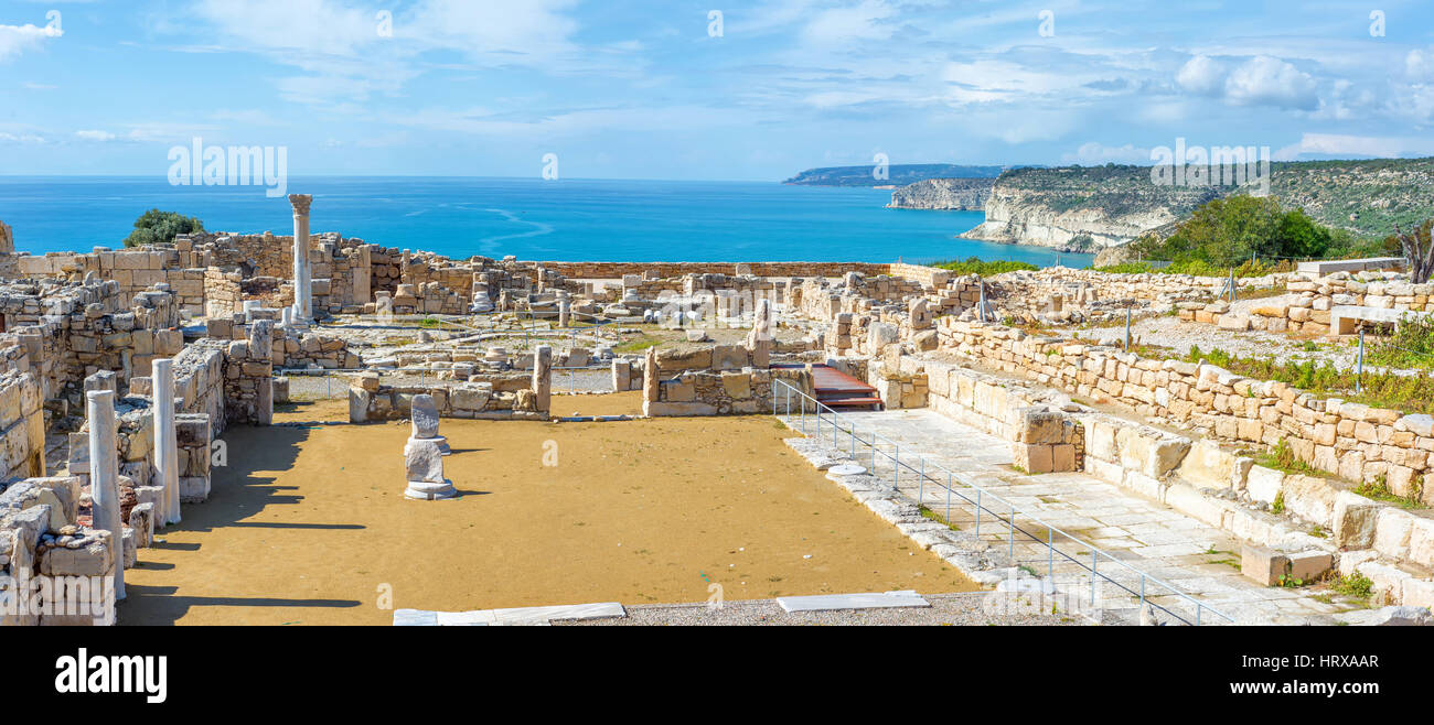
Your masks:
<instances>
[{"instance_id":1,"label":"flat golden-brown sandy courtyard floor among the ruins","mask_svg":"<svg viewBox=\"0 0 1434 725\"><path fill-rule=\"evenodd\" d=\"M585 414L637 404L555 400ZM277 418L344 421L347 407ZM728 600L975 589L782 444L792 433L770 417L442 430L456 501L403 499L406 424L229 428L211 499L126 572L120 623L387 625L383 605L701 602L710 582Z\"/></svg>"}]
</instances>

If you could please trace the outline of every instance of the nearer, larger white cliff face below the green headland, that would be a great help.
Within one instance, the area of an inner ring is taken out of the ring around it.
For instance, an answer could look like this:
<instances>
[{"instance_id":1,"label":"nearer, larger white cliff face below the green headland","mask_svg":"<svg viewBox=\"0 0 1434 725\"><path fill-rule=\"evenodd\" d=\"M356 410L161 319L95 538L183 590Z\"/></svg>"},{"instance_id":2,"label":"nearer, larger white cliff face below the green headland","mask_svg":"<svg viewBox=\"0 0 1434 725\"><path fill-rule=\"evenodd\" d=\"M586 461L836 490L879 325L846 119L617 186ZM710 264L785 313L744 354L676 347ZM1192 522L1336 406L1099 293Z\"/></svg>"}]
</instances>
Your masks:
<instances>
[{"instance_id":1,"label":"nearer, larger white cliff face below the green headland","mask_svg":"<svg viewBox=\"0 0 1434 725\"><path fill-rule=\"evenodd\" d=\"M1076 236L1088 235L1093 246L1106 248L1129 242L1147 229L1177 219L1166 206L1119 215L1108 215L1098 208L1060 211L1047 203L1047 196L997 185L987 199L985 222L961 236L1063 248Z\"/></svg>"}]
</instances>

